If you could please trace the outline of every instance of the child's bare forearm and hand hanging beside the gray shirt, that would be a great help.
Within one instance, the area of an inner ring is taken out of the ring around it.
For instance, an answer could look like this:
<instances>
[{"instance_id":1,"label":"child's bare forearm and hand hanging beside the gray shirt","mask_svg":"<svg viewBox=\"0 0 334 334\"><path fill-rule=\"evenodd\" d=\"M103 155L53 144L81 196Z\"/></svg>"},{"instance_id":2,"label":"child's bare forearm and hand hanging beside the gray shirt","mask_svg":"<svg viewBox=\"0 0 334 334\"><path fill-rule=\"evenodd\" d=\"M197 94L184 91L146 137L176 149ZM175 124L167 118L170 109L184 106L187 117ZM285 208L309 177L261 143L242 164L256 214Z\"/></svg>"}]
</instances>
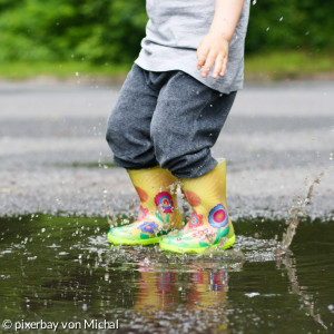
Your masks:
<instances>
[{"instance_id":1,"label":"child's bare forearm and hand hanging beside the gray shirt","mask_svg":"<svg viewBox=\"0 0 334 334\"><path fill-rule=\"evenodd\" d=\"M208 35L197 48L197 69L207 77L215 63L213 77L223 77L226 70L228 45L239 20L244 0L216 0L215 16Z\"/></svg>"}]
</instances>

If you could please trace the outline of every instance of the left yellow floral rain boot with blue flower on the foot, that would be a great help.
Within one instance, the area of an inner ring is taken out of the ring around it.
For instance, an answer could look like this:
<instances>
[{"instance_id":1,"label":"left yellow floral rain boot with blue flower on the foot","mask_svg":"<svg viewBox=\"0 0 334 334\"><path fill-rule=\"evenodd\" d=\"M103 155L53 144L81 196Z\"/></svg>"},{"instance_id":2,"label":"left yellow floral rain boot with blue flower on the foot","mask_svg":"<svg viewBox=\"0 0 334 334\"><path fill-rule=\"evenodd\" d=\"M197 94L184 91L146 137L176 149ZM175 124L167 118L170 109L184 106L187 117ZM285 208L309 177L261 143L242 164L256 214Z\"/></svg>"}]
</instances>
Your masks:
<instances>
[{"instance_id":1,"label":"left yellow floral rain boot with blue flower on the foot","mask_svg":"<svg viewBox=\"0 0 334 334\"><path fill-rule=\"evenodd\" d=\"M176 177L159 166L127 171L140 198L139 213L135 223L111 228L108 240L117 245L159 243L161 235L183 226L173 189Z\"/></svg>"}]
</instances>

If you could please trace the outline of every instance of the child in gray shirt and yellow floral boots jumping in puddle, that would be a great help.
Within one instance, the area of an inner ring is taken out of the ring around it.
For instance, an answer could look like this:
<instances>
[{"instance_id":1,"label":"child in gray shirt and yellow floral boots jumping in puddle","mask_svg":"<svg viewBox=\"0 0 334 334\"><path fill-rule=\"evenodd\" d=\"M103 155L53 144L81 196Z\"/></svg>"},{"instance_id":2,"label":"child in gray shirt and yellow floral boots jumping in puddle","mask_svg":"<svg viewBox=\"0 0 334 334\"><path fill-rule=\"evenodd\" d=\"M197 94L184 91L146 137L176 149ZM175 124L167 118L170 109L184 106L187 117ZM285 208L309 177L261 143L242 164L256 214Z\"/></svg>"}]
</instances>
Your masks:
<instances>
[{"instance_id":1,"label":"child in gray shirt and yellow floral boots jumping in puddle","mask_svg":"<svg viewBox=\"0 0 334 334\"><path fill-rule=\"evenodd\" d=\"M226 166L210 148L243 87L249 0L147 0L146 9L141 51L106 135L140 206L137 220L111 228L108 239L160 243L177 253L228 248L235 234L226 209ZM184 227L173 188L177 179L193 207Z\"/></svg>"}]
</instances>

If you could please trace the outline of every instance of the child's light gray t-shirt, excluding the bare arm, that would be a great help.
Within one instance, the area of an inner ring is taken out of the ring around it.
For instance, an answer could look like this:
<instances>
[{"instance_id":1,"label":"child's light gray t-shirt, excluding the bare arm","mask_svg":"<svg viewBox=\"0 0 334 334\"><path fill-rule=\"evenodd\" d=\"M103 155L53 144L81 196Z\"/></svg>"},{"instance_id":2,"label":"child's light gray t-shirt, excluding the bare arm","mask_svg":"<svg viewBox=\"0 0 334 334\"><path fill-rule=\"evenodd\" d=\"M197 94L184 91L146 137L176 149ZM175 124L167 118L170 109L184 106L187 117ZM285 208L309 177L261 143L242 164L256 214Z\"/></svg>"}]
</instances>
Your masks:
<instances>
[{"instance_id":1,"label":"child's light gray t-shirt, excluding the bare arm","mask_svg":"<svg viewBox=\"0 0 334 334\"><path fill-rule=\"evenodd\" d=\"M146 37L141 41L141 51L135 62L149 71L183 70L220 92L242 89L249 1L244 2L240 19L229 43L224 77L214 79L210 71L207 78L203 78L196 67L197 47L209 31L215 0L146 0L149 20Z\"/></svg>"}]
</instances>

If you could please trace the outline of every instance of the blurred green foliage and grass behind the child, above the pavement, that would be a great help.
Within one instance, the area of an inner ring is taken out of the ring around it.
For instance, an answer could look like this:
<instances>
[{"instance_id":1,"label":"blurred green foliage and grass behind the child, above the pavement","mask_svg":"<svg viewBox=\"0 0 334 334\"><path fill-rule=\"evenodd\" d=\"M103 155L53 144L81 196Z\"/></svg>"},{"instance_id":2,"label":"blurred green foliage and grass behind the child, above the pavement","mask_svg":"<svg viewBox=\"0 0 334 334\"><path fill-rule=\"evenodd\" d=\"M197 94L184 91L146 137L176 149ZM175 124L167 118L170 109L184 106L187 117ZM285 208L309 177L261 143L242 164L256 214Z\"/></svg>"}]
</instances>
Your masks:
<instances>
[{"instance_id":1,"label":"blurred green foliage and grass behind the child, above the pavement","mask_svg":"<svg viewBox=\"0 0 334 334\"><path fill-rule=\"evenodd\" d=\"M333 77L333 0L252 0L246 80ZM145 0L0 0L0 77L124 77L146 22Z\"/></svg>"}]
</instances>

